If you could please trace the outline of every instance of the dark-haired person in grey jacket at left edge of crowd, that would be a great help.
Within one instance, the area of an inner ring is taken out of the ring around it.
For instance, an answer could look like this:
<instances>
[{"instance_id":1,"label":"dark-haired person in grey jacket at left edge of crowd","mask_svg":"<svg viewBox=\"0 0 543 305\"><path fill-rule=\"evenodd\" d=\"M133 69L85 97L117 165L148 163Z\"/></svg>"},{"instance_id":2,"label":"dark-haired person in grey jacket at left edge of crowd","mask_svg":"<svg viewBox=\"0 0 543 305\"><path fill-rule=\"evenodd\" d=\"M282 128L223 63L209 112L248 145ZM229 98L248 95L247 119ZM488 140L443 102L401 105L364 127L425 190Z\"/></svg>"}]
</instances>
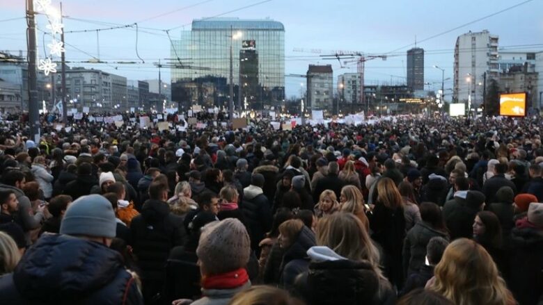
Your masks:
<instances>
[{"instance_id":1,"label":"dark-haired person in grey jacket at left edge of crowd","mask_svg":"<svg viewBox=\"0 0 543 305\"><path fill-rule=\"evenodd\" d=\"M11 201L9 208L10 215L15 217L15 222L18 222L24 231L27 245L31 244L30 231L38 229L42 220L45 218L45 205L38 205L36 213L33 212L29 197L24 195L22 189L26 183L26 177L19 170L10 170L2 174L2 183L0 183L0 191L10 191L15 194L17 204ZM11 196L13 199L13 196ZM6 201L6 200L4 200ZM4 212L5 213L5 212ZM16 216L15 216L16 215Z\"/></svg>"}]
</instances>

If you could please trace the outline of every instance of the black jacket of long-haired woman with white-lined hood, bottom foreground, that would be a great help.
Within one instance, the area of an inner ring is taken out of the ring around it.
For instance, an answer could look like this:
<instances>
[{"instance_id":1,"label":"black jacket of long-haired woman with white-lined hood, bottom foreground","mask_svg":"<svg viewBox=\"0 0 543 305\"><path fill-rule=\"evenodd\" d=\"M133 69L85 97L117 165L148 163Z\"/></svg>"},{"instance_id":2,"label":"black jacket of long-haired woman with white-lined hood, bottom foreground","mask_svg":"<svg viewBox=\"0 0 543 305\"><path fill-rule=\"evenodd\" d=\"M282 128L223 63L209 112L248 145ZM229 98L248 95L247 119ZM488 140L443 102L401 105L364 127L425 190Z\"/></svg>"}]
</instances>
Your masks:
<instances>
[{"instance_id":1,"label":"black jacket of long-haired woman with white-lined hood, bottom foreground","mask_svg":"<svg viewBox=\"0 0 543 305\"><path fill-rule=\"evenodd\" d=\"M367 262L311 262L296 280L296 290L311 305L394 304L391 289L379 294L379 281Z\"/></svg>"}]
</instances>

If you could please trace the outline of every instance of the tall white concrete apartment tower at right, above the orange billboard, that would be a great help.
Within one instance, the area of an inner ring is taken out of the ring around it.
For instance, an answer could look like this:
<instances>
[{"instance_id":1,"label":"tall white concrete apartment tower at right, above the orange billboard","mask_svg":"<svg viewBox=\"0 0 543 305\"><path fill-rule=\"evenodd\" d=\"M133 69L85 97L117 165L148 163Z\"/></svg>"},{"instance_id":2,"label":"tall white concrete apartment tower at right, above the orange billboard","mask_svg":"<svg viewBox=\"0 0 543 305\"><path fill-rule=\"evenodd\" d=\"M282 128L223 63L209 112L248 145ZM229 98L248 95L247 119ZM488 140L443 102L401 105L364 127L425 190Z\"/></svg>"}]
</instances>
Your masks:
<instances>
[{"instance_id":1,"label":"tall white concrete apartment tower at right, above the orange billboard","mask_svg":"<svg viewBox=\"0 0 543 305\"><path fill-rule=\"evenodd\" d=\"M475 94L483 83L483 74L489 79L498 80L498 35L485 30L458 36L455 45L454 92L453 99L459 103L478 106L482 102L482 94ZM476 99L475 99L475 98Z\"/></svg>"}]
</instances>

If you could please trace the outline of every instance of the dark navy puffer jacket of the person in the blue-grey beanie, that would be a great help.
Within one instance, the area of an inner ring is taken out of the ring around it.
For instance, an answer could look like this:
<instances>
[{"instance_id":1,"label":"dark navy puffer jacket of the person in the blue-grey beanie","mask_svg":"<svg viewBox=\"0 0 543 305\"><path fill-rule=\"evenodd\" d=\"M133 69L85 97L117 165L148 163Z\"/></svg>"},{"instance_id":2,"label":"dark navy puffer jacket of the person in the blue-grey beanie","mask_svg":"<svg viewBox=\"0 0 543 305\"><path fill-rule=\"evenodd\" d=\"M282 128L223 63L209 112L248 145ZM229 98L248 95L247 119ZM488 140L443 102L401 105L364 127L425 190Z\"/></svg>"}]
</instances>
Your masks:
<instances>
[{"instance_id":1,"label":"dark navy puffer jacket of the person in the blue-grey beanie","mask_svg":"<svg viewBox=\"0 0 543 305\"><path fill-rule=\"evenodd\" d=\"M2 304L143 304L123 258L97 242L51 234L0 277Z\"/></svg>"}]
</instances>

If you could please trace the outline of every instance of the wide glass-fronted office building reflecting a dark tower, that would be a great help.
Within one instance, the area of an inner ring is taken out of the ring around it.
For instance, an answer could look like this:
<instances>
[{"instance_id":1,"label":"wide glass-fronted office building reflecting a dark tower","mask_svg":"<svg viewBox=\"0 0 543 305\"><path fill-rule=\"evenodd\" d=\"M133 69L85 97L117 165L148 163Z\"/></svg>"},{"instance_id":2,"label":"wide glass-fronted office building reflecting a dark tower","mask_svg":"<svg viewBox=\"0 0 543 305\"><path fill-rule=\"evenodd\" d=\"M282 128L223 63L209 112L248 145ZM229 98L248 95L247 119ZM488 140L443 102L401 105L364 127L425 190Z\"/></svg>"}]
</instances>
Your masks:
<instances>
[{"instance_id":1,"label":"wide glass-fronted office building reflecting a dark tower","mask_svg":"<svg viewBox=\"0 0 543 305\"><path fill-rule=\"evenodd\" d=\"M191 31L183 31L180 40L173 41L171 58L180 60L171 62L172 100L185 108L199 104L226 109L230 85L230 43L236 108L246 101L250 101L249 107L257 109L277 106L283 101L283 24L270 19L237 18L195 19ZM249 58L249 63L245 58ZM258 75L250 75L249 72ZM254 81L258 84L255 85ZM244 83L249 83L251 90L244 90Z\"/></svg>"}]
</instances>

